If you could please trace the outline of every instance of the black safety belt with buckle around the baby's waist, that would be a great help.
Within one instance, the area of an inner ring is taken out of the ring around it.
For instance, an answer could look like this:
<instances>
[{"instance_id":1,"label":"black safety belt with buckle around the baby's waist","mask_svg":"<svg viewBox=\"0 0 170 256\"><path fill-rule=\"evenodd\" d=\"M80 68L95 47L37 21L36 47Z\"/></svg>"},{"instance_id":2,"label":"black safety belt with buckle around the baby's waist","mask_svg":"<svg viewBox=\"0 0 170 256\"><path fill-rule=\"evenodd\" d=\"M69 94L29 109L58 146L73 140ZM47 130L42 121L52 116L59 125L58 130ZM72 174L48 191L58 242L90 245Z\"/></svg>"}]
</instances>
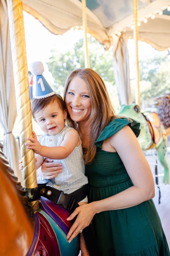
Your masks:
<instances>
[{"instance_id":1,"label":"black safety belt with buckle around the baby's waist","mask_svg":"<svg viewBox=\"0 0 170 256\"><path fill-rule=\"evenodd\" d=\"M38 184L37 188L25 189L30 198L29 202L36 201L40 198L40 196L44 196L72 213L79 206L78 202L82 201L87 196L88 184L85 184L83 187L70 194L66 194L62 190L46 186L46 184L47 183L44 183L43 185ZM98 245L92 230L92 225L90 224L88 227L84 228L82 234L90 255L99 255Z\"/></svg>"}]
</instances>

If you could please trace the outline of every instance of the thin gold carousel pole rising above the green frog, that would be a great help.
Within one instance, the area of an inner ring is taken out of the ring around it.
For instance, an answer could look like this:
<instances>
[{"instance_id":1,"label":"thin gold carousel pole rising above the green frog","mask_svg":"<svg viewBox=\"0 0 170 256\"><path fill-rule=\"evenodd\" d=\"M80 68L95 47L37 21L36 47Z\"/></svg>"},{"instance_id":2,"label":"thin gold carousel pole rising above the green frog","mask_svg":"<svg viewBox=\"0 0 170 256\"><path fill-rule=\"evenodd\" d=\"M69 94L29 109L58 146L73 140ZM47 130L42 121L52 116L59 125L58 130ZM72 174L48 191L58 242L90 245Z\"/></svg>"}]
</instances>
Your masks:
<instances>
[{"instance_id":1,"label":"thin gold carousel pole rising above the green frog","mask_svg":"<svg viewBox=\"0 0 170 256\"><path fill-rule=\"evenodd\" d=\"M136 64L136 93L135 102L140 107L140 73L139 73L139 59L138 59L138 26L137 26L137 0L133 0L133 15L134 15L134 29L133 38L135 40L135 64Z\"/></svg>"}]
</instances>

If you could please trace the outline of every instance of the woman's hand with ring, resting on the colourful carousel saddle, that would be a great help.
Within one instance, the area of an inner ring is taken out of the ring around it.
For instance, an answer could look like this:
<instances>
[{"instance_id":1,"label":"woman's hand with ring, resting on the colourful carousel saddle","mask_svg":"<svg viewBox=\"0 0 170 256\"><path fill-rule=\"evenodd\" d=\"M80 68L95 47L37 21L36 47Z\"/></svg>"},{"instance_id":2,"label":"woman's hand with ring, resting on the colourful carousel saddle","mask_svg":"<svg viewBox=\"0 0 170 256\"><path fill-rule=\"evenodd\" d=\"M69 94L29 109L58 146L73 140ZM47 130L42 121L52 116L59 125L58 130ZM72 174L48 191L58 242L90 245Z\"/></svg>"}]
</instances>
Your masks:
<instances>
[{"instance_id":1,"label":"woman's hand with ring, resting on the colourful carousel saddle","mask_svg":"<svg viewBox=\"0 0 170 256\"><path fill-rule=\"evenodd\" d=\"M69 239L69 243L73 240L74 237L79 234L81 229L89 226L92 218L96 214L94 203L95 202L92 202L90 204L83 204L77 207L74 212L67 218L67 220L73 220L74 217L78 215L77 219L75 220L74 224L71 226L67 234L67 239Z\"/></svg>"}]
</instances>

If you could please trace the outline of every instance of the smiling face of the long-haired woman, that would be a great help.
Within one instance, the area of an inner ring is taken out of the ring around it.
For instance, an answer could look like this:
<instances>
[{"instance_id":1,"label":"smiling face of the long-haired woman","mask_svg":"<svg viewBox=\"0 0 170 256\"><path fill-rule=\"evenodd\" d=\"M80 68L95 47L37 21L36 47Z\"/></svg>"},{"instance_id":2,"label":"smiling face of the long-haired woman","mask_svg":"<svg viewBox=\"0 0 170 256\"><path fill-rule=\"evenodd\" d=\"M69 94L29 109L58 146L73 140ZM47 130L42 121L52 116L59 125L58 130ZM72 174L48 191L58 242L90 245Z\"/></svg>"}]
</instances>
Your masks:
<instances>
[{"instance_id":1,"label":"smiling face of the long-haired woman","mask_svg":"<svg viewBox=\"0 0 170 256\"><path fill-rule=\"evenodd\" d=\"M69 84L66 98L66 108L75 122L87 121L91 114L91 100L87 84L75 76Z\"/></svg>"}]
</instances>

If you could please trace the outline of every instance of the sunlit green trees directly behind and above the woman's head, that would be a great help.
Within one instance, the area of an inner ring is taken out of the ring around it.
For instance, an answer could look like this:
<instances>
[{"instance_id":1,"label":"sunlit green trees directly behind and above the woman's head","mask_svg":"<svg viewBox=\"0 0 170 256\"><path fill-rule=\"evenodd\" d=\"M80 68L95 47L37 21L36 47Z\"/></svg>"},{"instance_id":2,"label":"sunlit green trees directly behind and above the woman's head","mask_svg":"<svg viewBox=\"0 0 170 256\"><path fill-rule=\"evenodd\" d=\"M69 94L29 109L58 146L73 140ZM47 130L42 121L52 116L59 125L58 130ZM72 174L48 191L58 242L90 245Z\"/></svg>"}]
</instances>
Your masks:
<instances>
[{"instance_id":1,"label":"sunlit green trees directly behind and above the woman's head","mask_svg":"<svg viewBox=\"0 0 170 256\"><path fill-rule=\"evenodd\" d=\"M112 64L112 49L105 51L94 37L88 38L90 67L97 71L104 81L115 84ZM84 68L84 46L80 39L74 48L66 52L51 50L52 56L47 61L49 71L55 79L54 89L61 93L67 76L77 68Z\"/></svg>"}]
</instances>

